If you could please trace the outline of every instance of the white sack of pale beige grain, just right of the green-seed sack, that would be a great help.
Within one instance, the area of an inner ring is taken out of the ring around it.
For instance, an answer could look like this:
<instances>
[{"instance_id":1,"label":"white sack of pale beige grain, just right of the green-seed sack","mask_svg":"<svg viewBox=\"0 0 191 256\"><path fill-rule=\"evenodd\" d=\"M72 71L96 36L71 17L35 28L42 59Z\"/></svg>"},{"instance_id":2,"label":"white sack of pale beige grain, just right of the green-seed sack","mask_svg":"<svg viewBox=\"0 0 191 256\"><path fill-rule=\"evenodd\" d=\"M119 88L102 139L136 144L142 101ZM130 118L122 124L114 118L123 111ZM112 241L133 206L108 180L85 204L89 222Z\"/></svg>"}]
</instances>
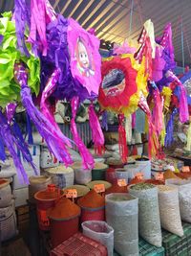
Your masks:
<instances>
[{"instance_id":1,"label":"white sack of pale beige grain, just right of the green-seed sack","mask_svg":"<svg viewBox=\"0 0 191 256\"><path fill-rule=\"evenodd\" d=\"M183 236L180 220L178 189L172 186L159 185L159 217L161 226L169 232Z\"/></svg>"}]
</instances>

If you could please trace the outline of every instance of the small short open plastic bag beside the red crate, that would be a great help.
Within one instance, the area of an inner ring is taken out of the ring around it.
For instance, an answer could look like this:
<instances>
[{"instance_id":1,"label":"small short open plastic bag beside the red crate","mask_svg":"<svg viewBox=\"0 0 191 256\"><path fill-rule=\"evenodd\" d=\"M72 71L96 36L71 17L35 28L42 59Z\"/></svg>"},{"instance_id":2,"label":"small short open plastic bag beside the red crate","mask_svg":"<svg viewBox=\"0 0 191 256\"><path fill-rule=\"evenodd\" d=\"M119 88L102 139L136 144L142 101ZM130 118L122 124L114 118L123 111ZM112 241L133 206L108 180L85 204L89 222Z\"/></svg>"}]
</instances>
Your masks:
<instances>
[{"instance_id":1,"label":"small short open plastic bag beside the red crate","mask_svg":"<svg viewBox=\"0 0 191 256\"><path fill-rule=\"evenodd\" d=\"M113 256L114 229L105 221L85 221L82 224L83 234L107 247L108 256Z\"/></svg>"}]
</instances>

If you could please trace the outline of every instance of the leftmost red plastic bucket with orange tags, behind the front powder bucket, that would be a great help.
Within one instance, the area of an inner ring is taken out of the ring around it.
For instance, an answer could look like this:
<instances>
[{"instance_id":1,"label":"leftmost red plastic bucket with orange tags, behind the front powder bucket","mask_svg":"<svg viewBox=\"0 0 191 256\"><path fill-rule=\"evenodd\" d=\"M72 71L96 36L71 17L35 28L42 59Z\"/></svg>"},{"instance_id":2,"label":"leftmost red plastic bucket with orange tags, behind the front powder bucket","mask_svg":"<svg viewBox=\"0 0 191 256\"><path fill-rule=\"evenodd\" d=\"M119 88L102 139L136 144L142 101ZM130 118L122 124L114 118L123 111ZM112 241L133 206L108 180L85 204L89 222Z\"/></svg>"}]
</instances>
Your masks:
<instances>
[{"instance_id":1,"label":"leftmost red plastic bucket with orange tags, behind the front powder bucket","mask_svg":"<svg viewBox=\"0 0 191 256\"><path fill-rule=\"evenodd\" d=\"M46 198L42 194L46 194ZM49 198L50 196L50 198ZM55 188L54 184L48 185L47 190L41 190L35 193L36 210L39 228L41 230L50 230L50 221L47 217L47 210L54 206L55 201L60 197L60 190Z\"/></svg>"}]
</instances>

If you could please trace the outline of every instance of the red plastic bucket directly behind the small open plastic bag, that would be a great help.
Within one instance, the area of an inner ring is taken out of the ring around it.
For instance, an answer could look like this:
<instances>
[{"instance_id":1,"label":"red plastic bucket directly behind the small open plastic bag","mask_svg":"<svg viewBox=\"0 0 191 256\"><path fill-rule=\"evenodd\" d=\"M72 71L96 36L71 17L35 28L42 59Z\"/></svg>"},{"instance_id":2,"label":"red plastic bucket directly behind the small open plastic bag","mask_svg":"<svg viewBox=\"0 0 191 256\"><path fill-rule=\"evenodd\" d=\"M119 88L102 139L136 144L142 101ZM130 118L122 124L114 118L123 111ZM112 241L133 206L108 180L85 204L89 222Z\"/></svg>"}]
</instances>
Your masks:
<instances>
[{"instance_id":1,"label":"red plastic bucket directly behind the small open plastic bag","mask_svg":"<svg viewBox=\"0 0 191 256\"><path fill-rule=\"evenodd\" d=\"M84 221L105 221L105 206L96 209L81 207L80 222Z\"/></svg>"}]
</instances>

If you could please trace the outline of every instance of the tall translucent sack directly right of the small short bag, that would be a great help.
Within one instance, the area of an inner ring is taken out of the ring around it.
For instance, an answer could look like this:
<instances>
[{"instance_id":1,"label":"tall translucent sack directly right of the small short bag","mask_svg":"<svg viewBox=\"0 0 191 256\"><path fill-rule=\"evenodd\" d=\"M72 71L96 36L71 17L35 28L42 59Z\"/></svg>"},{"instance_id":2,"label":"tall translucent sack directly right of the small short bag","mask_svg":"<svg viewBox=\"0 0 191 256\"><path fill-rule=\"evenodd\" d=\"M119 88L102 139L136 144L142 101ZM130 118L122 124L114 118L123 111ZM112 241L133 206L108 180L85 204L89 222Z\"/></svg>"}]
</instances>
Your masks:
<instances>
[{"instance_id":1,"label":"tall translucent sack directly right of the small short bag","mask_svg":"<svg viewBox=\"0 0 191 256\"><path fill-rule=\"evenodd\" d=\"M114 246L121 256L138 256L138 198L126 193L105 197L106 220L114 228Z\"/></svg>"}]
</instances>

